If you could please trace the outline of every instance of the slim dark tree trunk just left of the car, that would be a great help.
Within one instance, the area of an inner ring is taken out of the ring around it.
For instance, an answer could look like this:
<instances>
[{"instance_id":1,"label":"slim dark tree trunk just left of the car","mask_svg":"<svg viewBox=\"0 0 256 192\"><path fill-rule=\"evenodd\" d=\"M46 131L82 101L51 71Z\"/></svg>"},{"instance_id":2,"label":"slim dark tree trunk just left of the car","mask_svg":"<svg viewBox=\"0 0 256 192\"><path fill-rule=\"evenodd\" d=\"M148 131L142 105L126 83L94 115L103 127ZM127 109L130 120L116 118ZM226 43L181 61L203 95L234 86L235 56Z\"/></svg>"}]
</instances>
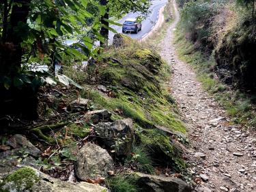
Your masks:
<instances>
[{"instance_id":1,"label":"slim dark tree trunk just left of the car","mask_svg":"<svg viewBox=\"0 0 256 192\"><path fill-rule=\"evenodd\" d=\"M100 5L104 5L106 6L108 3L108 0L100 0ZM100 22L103 25L106 25L106 27L109 27L109 22L107 22L104 19L109 19L109 8L106 7L106 13L104 14L104 16L102 16L102 18L100 19ZM109 29L106 29L105 27L101 27L100 29L100 35L102 35L104 37L104 42L100 42L100 46L104 47L108 45L109 42Z\"/></svg>"}]
</instances>

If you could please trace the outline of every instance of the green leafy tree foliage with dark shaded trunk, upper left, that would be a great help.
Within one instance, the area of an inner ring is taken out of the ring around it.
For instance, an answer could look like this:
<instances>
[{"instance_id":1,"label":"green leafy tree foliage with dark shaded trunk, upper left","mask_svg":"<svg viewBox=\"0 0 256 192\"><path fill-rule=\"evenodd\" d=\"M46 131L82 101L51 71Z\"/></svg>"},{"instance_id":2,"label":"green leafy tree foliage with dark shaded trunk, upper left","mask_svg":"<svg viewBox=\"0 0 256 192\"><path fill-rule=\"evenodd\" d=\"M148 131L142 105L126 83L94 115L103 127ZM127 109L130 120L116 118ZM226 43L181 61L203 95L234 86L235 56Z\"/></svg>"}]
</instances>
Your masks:
<instances>
[{"instance_id":1,"label":"green leafy tree foliage with dark shaded trunk, upper left","mask_svg":"<svg viewBox=\"0 0 256 192\"><path fill-rule=\"evenodd\" d=\"M131 10L145 15L149 6L148 0L1 1L0 105L12 110L31 100L35 108L35 93L49 74L29 68L48 66L55 75L56 64L79 65L98 57L102 48L96 44L106 44L109 31L115 32L110 24L117 25L109 15L119 18Z\"/></svg>"}]
</instances>

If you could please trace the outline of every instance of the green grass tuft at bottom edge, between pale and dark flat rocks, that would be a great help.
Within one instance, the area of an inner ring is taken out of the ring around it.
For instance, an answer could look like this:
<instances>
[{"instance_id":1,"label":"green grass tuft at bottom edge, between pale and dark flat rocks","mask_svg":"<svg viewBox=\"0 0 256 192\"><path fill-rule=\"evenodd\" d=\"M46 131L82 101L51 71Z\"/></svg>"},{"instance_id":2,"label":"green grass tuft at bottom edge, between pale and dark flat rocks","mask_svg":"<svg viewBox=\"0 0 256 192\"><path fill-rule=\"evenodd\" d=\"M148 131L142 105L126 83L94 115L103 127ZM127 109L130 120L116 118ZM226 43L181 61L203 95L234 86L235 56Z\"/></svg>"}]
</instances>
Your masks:
<instances>
[{"instance_id":1,"label":"green grass tuft at bottom edge, between pale and dark flat rocks","mask_svg":"<svg viewBox=\"0 0 256 192\"><path fill-rule=\"evenodd\" d=\"M117 174L106 178L106 186L111 192L137 192L139 188L136 185L136 179L132 176Z\"/></svg>"}]
</instances>

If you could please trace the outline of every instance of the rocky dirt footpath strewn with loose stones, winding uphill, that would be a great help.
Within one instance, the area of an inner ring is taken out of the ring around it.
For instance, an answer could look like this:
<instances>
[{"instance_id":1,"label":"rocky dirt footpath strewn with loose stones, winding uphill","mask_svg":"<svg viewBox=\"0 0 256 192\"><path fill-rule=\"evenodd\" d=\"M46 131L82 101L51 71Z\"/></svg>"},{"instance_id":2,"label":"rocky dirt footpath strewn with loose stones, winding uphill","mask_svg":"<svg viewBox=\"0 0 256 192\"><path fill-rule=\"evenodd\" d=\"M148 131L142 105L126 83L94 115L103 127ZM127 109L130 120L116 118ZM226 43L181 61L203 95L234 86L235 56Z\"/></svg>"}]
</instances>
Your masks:
<instances>
[{"instance_id":1,"label":"rocky dirt footpath strewn with loose stones, winding uphill","mask_svg":"<svg viewBox=\"0 0 256 192\"><path fill-rule=\"evenodd\" d=\"M216 101L203 91L196 75L175 55L173 31L180 15L161 44L161 55L173 69L172 94L188 123L190 172L195 191L256 191L256 137L240 127L229 126L229 118Z\"/></svg>"}]
</instances>

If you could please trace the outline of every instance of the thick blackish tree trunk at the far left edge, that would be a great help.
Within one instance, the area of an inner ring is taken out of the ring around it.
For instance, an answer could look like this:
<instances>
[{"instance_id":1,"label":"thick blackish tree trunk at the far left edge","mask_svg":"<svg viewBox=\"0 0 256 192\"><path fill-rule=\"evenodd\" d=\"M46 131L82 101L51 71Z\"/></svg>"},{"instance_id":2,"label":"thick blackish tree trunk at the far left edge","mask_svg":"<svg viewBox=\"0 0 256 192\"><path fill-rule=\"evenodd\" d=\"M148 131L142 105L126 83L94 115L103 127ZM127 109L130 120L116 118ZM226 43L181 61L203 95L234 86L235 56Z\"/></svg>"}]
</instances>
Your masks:
<instances>
[{"instance_id":1,"label":"thick blackish tree trunk at the far left edge","mask_svg":"<svg viewBox=\"0 0 256 192\"><path fill-rule=\"evenodd\" d=\"M20 44L23 42L20 35L23 34L17 33L16 27L27 24L31 0L14 0L13 3L6 37L0 44L0 76L15 76L20 71L22 57Z\"/></svg>"}]
</instances>

